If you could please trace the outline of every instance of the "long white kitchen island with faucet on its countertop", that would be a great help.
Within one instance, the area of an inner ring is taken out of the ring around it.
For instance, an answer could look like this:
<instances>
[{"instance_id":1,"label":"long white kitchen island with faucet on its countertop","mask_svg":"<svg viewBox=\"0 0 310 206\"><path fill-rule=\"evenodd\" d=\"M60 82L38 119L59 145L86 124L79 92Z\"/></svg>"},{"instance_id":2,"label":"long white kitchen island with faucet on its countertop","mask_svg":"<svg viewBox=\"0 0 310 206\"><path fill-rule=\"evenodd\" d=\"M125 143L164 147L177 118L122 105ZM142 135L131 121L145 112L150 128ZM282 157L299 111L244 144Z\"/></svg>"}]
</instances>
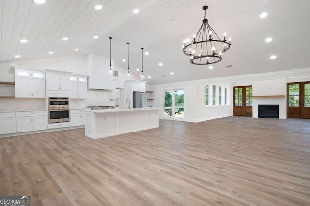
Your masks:
<instances>
[{"instance_id":1,"label":"long white kitchen island with faucet on its countertop","mask_svg":"<svg viewBox=\"0 0 310 206\"><path fill-rule=\"evenodd\" d=\"M98 139L159 127L158 109L105 109L85 111L85 136Z\"/></svg>"}]
</instances>

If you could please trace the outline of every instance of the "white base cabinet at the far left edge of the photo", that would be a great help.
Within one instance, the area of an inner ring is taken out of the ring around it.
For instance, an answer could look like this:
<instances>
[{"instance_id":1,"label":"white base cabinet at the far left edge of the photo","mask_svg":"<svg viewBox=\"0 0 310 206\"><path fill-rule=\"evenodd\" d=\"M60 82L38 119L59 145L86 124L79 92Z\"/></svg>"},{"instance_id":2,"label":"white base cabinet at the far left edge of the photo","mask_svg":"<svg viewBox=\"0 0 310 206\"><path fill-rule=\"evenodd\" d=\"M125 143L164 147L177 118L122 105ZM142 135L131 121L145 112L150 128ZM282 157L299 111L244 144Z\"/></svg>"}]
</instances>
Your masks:
<instances>
[{"instance_id":1,"label":"white base cabinet at the far left edge of the photo","mask_svg":"<svg viewBox=\"0 0 310 206\"><path fill-rule=\"evenodd\" d=\"M16 112L0 113L0 134L16 133Z\"/></svg>"}]
</instances>

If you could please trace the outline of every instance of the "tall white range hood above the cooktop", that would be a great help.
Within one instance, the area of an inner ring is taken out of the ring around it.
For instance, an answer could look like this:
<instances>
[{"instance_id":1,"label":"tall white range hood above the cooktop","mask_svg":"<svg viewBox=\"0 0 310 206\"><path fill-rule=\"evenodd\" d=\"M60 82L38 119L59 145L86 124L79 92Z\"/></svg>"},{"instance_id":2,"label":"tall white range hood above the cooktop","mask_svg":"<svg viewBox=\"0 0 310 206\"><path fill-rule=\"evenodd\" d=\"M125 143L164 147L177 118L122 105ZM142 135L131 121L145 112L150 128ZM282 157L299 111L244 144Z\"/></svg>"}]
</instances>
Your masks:
<instances>
[{"instance_id":1,"label":"tall white range hood above the cooktop","mask_svg":"<svg viewBox=\"0 0 310 206\"><path fill-rule=\"evenodd\" d=\"M115 89L114 76L108 73L110 59L99 55L87 55L88 89L113 90ZM112 59L113 65L113 59Z\"/></svg>"}]
</instances>

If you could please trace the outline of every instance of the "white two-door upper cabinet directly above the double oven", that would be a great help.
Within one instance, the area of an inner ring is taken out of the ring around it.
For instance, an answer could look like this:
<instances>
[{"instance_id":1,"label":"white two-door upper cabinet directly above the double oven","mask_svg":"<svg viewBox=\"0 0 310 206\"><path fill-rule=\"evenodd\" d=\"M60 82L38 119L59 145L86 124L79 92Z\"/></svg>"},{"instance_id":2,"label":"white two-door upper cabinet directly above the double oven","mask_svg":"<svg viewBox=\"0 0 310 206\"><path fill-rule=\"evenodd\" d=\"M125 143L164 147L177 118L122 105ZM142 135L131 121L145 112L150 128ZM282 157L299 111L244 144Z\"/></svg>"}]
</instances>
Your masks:
<instances>
[{"instance_id":1,"label":"white two-door upper cabinet directly above the double oven","mask_svg":"<svg viewBox=\"0 0 310 206\"><path fill-rule=\"evenodd\" d=\"M56 70L45 71L47 96L69 97L71 73Z\"/></svg>"}]
</instances>

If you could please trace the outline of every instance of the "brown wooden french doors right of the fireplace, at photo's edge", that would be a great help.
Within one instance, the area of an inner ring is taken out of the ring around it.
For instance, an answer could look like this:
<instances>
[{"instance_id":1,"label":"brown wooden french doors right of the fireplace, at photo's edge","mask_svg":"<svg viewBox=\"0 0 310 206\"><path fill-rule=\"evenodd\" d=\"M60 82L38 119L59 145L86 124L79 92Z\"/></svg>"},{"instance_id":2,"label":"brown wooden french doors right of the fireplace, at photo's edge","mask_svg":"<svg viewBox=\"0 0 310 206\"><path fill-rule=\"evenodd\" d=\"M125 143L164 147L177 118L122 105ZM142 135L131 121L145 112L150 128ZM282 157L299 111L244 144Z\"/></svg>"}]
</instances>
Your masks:
<instances>
[{"instance_id":1,"label":"brown wooden french doors right of the fireplace, at photo's edge","mask_svg":"<svg viewBox=\"0 0 310 206\"><path fill-rule=\"evenodd\" d=\"M310 119L310 82L287 83L287 118Z\"/></svg>"}]
</instances>

